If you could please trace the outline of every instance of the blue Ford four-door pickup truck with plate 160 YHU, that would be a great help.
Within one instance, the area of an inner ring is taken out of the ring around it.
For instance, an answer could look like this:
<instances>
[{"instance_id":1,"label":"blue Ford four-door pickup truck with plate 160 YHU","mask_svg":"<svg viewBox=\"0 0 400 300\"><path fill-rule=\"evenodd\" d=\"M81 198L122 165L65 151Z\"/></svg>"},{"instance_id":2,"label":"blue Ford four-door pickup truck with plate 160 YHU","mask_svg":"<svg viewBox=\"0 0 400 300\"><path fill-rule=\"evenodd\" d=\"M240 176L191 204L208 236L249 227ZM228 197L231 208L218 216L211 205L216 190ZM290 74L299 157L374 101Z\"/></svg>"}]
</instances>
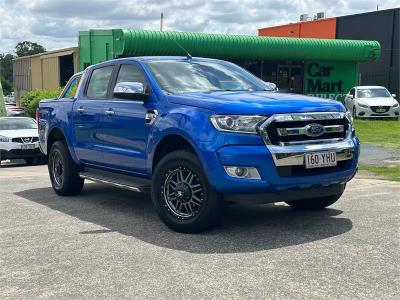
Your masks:
<instances>
[{"instance_id":1,"label":"blue Ford four-door pickup truck with plate 160 YHU","mask_svg":"<svg viewBox=\"0 0 400 300\"><path fill-rule=\"evenodd\" d=\"M58 195L80 193L85 179L148 191L179 232L210 228L232 202L323 209L357 171L342 104L278 93L215 59L96 64L41 101L37 118Z\"/></svg>"}]
</instances>

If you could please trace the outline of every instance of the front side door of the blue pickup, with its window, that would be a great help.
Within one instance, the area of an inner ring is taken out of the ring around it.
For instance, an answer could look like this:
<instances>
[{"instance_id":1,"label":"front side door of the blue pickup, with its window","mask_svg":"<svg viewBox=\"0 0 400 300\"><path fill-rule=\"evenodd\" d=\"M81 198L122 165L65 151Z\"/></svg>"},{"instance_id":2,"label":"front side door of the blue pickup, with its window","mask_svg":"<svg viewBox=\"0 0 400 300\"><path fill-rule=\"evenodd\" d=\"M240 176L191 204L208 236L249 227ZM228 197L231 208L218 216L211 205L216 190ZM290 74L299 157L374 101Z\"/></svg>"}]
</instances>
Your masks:
<instances>
[{"instance_id":1,"label":"front side door of the blue pickup, with its window","mask_svg":"<svg viewBox=\"0 0 400 300\"><path fill-rule=\"evenodd\" d=\"M141 67L135 63L124 63L116 71L118 82L141 82L149 91L147 78ZM149 126L145 124L147 111L154 105L152 95L147 101L113 98L107 106L103 142L104 161L107 166L126 172L145 174L146 145Z\"/></svg>"}]
</instances>

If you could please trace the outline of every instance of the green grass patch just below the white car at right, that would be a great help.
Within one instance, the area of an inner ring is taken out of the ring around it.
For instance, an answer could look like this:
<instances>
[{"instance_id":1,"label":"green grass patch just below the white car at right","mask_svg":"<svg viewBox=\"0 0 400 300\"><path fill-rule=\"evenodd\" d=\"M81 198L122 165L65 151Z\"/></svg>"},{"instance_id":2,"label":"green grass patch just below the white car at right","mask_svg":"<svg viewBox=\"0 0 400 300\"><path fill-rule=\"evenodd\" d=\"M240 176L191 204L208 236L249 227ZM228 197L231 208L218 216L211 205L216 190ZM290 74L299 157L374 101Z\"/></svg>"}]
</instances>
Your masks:
<instances>
[{"instance_id":1,"label":"green grass patch just below the white car at right","mask_svg":"<svg viewBox=\"0 0 400 300\"><path fill-rule=\"evenodd\" d=\"M362 144L374 144L389 151L400 150L400 121L355 120L356 134Z\"/></svg>"}]
</instances>

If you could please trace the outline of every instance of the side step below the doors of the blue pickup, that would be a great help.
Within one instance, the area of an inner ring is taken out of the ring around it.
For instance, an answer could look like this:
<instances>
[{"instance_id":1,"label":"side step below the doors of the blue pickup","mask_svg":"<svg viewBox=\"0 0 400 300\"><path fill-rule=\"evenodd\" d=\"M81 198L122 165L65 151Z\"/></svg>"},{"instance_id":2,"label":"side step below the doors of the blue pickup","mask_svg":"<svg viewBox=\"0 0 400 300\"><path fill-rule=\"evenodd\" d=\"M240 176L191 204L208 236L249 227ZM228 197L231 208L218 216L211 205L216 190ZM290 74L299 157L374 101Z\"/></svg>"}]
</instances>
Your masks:
<instances>
[{"instance_id":1,"label":"side step below the doors of the blue pickup","mask_svg":"<svg viewBox=\"0 0 400 300\"><path fill-rule=\"evenodd\" d=\"M106 183L135 192L149 192L151 187L150 179L138 178L94 168L85 168L85 171L80 172L79 176L91 181Z\"/></svg>"}]
</instances>

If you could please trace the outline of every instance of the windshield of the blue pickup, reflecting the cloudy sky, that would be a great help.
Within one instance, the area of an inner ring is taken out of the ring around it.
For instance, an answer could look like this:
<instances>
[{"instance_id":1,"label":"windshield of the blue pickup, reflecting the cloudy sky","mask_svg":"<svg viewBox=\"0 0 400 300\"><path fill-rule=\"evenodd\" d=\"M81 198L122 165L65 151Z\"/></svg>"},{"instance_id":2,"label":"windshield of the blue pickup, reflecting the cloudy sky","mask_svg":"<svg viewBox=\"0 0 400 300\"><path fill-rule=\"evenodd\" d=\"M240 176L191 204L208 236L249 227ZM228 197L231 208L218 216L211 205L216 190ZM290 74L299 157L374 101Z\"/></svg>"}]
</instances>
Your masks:
<instances>
[{"instance_id":1,"label":"windshield of the blue pickup, reflecting the cloudy sky","mask_svg":"<svg viewBox=\"0 0 400 300\"><path fill-rule=\"evenodd\" d=\"M161 89L172 93L271 90L244 69L219 61L146 62Z\"/></svg>"}]
</instances>

